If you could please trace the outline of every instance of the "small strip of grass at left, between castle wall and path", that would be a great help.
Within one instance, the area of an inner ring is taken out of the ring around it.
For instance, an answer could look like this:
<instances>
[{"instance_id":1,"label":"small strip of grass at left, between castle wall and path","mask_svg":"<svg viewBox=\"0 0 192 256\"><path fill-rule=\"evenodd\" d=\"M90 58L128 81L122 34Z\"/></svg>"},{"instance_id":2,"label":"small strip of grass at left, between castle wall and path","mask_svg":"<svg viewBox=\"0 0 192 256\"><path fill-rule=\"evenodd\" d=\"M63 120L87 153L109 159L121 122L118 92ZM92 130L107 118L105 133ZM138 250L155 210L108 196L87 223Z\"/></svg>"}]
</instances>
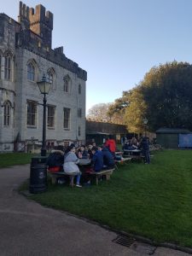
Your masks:
<instances>
[{"instance_id":1,"label":"small strip of grass at left, between castle wall and path","mask_svg":"<svg viewBox=\"0 0 192 256\"><path fill-rule=\"evenodd\" d=\"M5 153L0 154L0 168L26 165L31 162L32 156L37 154Z\"/></svg>"}]
</instances>

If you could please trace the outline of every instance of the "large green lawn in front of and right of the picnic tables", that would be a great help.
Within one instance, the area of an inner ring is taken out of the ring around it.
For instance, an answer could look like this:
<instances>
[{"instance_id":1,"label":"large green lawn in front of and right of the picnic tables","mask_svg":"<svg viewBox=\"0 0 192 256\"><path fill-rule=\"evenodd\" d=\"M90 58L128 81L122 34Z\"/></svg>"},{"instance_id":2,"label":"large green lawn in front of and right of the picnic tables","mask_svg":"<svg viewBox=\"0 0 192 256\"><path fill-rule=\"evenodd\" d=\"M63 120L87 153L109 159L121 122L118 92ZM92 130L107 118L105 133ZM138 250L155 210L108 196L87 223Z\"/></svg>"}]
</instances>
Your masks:
<instances>
[{"instance_id":1,"label":"large green lawn in front of and right of the picnic tables","mask_svg":"<svg viewBox=\"0 0 192 256\"><path fill-rule=\"evenodd\" d=\"M192 247L192 151L164 150L150 165L120 166L98 186L51 185L30 198L47 207L159 242Z\"/></svg>"}]
</instances>

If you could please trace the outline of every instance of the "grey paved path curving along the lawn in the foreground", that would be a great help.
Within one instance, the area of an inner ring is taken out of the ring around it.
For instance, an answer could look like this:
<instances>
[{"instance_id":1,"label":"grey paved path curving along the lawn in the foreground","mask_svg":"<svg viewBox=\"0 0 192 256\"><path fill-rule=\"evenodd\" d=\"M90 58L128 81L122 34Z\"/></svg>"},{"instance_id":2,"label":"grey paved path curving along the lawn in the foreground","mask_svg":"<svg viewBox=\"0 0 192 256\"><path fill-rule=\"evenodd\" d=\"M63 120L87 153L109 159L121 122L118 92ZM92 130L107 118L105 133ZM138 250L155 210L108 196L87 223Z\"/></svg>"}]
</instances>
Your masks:
<instances>
[{"instance_id":1,"label":"grey paved path curving along the lawn in the foreground","mask_svg":"<svg viewBox=\"0 0 192 256\"><path fill-rule=\"evenodd\" d=\"M0 256L187 256L188 253L135 242L124 247L117 234L28 201L17 188L29 165L0 169Z\"/></svg>"}]
</instances>

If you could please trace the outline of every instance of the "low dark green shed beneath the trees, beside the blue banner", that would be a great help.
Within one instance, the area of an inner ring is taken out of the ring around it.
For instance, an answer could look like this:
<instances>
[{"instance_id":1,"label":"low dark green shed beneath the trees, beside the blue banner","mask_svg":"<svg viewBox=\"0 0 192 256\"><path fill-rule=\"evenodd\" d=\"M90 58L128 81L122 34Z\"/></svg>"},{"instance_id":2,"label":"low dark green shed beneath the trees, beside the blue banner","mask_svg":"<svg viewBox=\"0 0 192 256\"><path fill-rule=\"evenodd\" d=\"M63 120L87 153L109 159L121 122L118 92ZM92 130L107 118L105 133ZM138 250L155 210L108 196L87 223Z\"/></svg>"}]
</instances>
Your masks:
<instances>
[{"instance_id":1,"label":"low dark green shed beneath the trees, beside the blue banner","mask_svg":"<svg viewBox=\"0 0 192 256\"><path fill-rule=\"evenodd\" d=\"M187 129L160 128L156 131L156 142L163 148L178 148L179 134L190 133Z\"/></svg>"}]
</instances>

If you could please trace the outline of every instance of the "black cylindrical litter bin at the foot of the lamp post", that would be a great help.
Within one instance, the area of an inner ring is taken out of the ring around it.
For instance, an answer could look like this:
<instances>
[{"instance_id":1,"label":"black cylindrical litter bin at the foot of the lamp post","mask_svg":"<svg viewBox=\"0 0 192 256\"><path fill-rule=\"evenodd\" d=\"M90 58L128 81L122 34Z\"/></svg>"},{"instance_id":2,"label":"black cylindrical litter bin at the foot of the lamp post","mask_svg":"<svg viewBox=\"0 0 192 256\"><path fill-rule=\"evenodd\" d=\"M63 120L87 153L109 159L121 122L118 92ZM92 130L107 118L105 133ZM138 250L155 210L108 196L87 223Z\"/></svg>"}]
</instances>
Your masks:
<instances>
[{"instance_id":1,"label":"black cylindrical litter bin at the foot of the lamp post","mask_svg":"<svg viewBox=\"0 0 192 256\"><path fill-rule=\"evenodd\" d=\"M30 193L41 193L47 190L47 157L32 157L30 167Z\"/></svg>"}]
</instances>

